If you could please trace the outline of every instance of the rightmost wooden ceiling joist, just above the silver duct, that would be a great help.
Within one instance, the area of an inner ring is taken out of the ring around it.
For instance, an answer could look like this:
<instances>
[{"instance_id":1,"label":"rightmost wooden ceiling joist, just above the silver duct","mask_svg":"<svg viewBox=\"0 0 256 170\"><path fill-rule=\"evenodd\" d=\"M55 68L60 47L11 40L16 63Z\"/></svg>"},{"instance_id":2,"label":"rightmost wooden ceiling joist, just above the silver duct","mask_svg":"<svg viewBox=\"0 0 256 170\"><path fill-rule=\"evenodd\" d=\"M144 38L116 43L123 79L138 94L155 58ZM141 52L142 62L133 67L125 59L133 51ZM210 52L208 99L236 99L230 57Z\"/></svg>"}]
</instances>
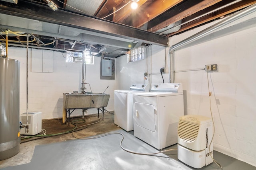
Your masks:
<instances>
[{"instance_id":1,"label":"rightmost wooden ceiling joist, just above the silver duct","mask_svg":"<svg viewBox=\"0 0 256 170\"><path fill-rule=\"evenodd\" d=\"M192 16L189 16L189 17L185 18L184 21L188 21L188 20L191 20L192 18L196 18L196 16L200 16L202 14L205 14L206 12L211 11L211 10L217 8L216 7L217 5L218 5L218 7L219 6L224 6L225 4L228 4L228 3L232 2L232 1L233 0L225 0L225 1L219 2L218 4L216 4L214 6L210 6L209 8L206 8L206 9L200 11L200 12L197 12L196 14L194 14ZM224 9L222 9L222 10L218 10L217 12L214 12L212 14L209 14L207 16L199 18L198 20L194 20L194 21L191 21L190 23L182 25L182 27L178 31L176 31L174 33L170 33L167 36L170 37L170 36L175 35L177 33L186 31L186 30L188 30L190 28L196 27L196 26L201 25L203 23L206 23L208 21L212 21L214 19L217 19L217 18L219 18L221 16L225 16L225 15L230 14L232 12L236 12L238 10L246 8L246 7L248 7L248 6L252 5L252 4L255 4L255 3L256 3L255 0L242 0L242 1L238 2L238 3L236 3L236 4L228 6L228 7L224 8Z\"/></svg>"}]
</instances>

